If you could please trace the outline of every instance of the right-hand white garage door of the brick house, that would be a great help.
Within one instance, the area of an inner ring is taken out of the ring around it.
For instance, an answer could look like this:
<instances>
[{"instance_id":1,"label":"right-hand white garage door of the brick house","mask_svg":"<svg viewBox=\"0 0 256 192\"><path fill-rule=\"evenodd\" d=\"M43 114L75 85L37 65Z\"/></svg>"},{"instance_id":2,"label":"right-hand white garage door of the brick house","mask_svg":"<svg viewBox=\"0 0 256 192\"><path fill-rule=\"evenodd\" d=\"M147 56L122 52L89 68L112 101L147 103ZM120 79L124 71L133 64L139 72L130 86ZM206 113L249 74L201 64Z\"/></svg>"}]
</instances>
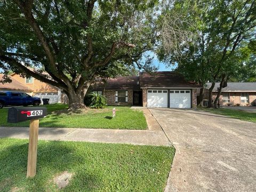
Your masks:
<instances>
[{"instance_id":1,"label":"right-hand white garage door of the brick house","mask_svg":"<svg viewBox=\"0 0 256 192\"><path fill-rule=\"evenodd\" d=\"M171 108L191 108L190 90L170 90Z\"/></svg>"}]
</instances>

